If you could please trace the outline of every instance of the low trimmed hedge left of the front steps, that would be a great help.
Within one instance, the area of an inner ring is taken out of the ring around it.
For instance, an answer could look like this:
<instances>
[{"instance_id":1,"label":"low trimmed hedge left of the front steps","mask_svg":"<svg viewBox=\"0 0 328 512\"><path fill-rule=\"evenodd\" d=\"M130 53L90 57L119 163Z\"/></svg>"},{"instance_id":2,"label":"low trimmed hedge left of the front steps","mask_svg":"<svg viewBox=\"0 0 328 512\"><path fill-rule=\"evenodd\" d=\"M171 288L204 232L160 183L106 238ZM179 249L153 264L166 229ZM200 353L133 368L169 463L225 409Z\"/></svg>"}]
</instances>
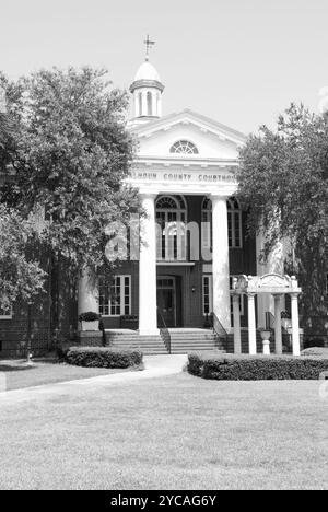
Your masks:
<instances>
[{"instance_id":1,"label":"low trimmed hedge left of the front steps","mask_svg":"<svg viewBox=\"0 0 328 512\"><path fill-rule=\"evenodd\" d=\"M107 347L71 347L65 354L69 364L85 368L130 368L142 364L139 350L119 350Z\"/></svg>"}]
</instances>

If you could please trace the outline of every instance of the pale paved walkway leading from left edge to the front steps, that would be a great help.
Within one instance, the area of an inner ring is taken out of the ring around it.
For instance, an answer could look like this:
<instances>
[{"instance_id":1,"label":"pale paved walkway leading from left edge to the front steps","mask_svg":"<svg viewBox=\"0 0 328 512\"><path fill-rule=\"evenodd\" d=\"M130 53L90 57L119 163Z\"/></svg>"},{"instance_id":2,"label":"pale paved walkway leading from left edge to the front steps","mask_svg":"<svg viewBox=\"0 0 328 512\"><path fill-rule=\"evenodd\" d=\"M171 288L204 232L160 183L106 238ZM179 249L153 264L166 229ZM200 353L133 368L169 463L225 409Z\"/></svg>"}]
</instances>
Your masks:
<instances>
[{"instance_id":1,"label":"pale paved walkway leading from left edge to the front steps","mask_svg":"<svg viewBox=\"0 0 328 512\"><path fill-rule=\"evenodd\" d=\"M43 386L26 387L0 393L1 404L15 404L19 402L49 398L60 395L79 395L82 389L97 391L117 384L128 384L147 379L156 379L167 375L175 375L183 371L187 362L187 356L145 356L144 370L136 372L114 373L91 379L80 379L77 381L60 382L57 384L45 384Z\"/></svg>"}]
</instances>

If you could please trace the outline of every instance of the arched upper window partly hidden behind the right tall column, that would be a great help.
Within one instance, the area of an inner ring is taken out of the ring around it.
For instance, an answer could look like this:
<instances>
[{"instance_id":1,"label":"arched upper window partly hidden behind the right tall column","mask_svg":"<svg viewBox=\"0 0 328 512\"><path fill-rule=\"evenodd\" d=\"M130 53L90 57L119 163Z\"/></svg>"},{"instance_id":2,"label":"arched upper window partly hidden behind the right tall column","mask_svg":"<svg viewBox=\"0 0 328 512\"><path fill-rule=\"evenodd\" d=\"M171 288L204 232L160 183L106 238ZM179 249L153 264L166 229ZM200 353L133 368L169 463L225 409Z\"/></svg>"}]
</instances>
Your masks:
<instances>
[{"instance_id":1,"label":"arched upper window partly hidden behind the right tall column","mask_svg":"<svg viewBox=\"0 0 328 512\"><path fill-rule=\"evenodd\" d=\"M231 248L243 247L242 209L234 197L227 200L227 236ZM201 243L203 248L212 247L212 201L208 198L201 207Z\"/></svg>"}]
</instances>

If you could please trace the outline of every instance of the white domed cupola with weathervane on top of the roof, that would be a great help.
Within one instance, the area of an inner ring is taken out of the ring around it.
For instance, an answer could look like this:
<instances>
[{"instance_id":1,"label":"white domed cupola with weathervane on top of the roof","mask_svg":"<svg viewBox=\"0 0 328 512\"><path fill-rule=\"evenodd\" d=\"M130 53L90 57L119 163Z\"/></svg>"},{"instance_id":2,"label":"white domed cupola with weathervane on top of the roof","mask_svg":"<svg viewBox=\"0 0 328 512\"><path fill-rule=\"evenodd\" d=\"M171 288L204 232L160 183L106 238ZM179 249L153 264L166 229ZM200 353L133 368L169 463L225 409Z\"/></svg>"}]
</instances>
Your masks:
<instances>
[{"instance_id":1,"label":"white domed cupola with weathervane on top of the roof","mask_svg":"<svg viewBox=\"0 0 328 512\"><path fill-rule=\"evenodd\" d=\"M133 94L134 118L140 120L162 116L162 93L164 91L156 69L149 61L149 49L154 45L154 42L150 40L148 36L144 43L147 45L145 61L138 69L130 86L130 92Z\"/></svg>"}]
</instances>

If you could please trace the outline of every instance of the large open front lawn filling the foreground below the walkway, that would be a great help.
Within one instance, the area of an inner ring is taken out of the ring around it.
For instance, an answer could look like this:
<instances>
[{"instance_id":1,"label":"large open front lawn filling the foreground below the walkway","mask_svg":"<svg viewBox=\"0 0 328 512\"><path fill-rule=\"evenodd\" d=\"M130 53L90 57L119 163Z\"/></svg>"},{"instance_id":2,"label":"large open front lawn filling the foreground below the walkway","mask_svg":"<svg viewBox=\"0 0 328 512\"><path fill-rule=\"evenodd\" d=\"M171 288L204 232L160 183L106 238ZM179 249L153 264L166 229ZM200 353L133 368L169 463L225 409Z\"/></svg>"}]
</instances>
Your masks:
<instances>
[{"instance_id":1,"label":"large open front lawn filling the foreground below the walkway","mask_svg":"<svg viewBox=\"0 0 328 512\"><path fill-rule=\"evenodd\" d=\"M184 373L0 402L0 488L327 489L320 384Z\"/></svg>"}]
</instances>

